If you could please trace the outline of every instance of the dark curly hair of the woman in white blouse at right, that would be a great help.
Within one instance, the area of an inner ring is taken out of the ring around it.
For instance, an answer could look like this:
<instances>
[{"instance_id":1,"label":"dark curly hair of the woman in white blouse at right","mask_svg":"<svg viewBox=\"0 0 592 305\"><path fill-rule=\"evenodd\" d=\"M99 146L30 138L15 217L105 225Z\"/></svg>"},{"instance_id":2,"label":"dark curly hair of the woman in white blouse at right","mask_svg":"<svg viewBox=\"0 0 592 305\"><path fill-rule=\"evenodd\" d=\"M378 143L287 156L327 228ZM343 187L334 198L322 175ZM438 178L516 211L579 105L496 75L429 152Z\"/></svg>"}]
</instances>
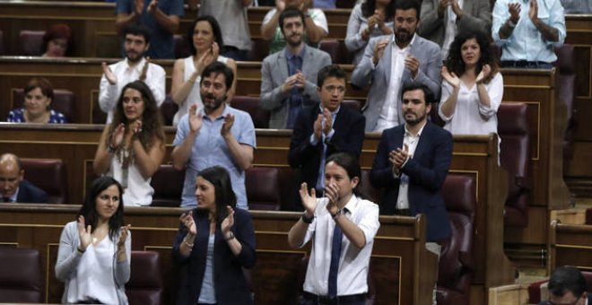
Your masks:
<instances>
[{"instance_id":1,"label":"dark curly hair of the woman in white blouse at right","mask_svg":"<svg viewBox=\"0 0 592 305\"><path fill-rule=\"evenodd\" d=\"M458 77L460 77L462 74L465 74L465 62L461 56L461 48L468 39L477 40L481 51L481 57L479 57L479 61L477 62L474 73L481 73L483 65L490 65L492 67L492 72L484 80L484 83L489 83L492 80L493 75L498 72L499 65L495 57L492 55L492 48L490 47L489 40L482 31L466 30L458 33L457 37L454 39L454 41L452 41L452 44L450 44L450 50L448 52L448 57L446 58L446 67L448 68L449 72L454 72L458 75Z\"/></svg>"}]
</instances>

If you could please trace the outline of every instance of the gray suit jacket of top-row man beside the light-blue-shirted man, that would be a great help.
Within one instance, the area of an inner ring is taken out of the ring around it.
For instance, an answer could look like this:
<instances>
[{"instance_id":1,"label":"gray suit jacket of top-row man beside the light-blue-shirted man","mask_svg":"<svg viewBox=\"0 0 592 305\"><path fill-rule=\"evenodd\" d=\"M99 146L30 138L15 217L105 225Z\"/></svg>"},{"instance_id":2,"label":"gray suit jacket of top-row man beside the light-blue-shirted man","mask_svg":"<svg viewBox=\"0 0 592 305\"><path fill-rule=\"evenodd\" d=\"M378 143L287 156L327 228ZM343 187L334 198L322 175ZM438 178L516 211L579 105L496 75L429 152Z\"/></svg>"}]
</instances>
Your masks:
<instances>
[{"instance_id":1,"label":"gray suit jacket of top-row man beside the light-blue-shirted man","mask_svg":"<svg viewBox=\"0 0 592 305\"><path fill-rule=\"evenodd\" d=\"M438 2L439 0L422 1L422 22L417 32L441 47L444 42L448 13L444 13L442 18L438 16ZM492 8L489 0L463 0L462 10L465 14L457 20L458 31L481 30L485 34L490 34Z\"/></svg>"}]
</instances>

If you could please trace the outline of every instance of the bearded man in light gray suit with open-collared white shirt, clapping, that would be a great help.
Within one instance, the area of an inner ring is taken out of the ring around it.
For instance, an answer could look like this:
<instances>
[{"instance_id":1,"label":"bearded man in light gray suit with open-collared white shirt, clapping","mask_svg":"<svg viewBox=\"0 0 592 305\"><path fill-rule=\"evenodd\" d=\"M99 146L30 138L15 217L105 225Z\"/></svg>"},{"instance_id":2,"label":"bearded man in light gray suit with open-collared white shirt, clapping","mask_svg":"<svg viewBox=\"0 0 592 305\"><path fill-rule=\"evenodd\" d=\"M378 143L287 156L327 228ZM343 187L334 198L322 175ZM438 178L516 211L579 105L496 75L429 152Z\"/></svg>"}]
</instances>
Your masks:
<instances>
[{"instance_id":1,"label":"bearded man in light gray suit with open-collared white shirt, clapping","mask_svg":"<svg viewBox=\"0 0 592 305\"><path fill-rule=\"evenodd\" d=\"M405 123L401 113L401 88L423 83L440 100L440 47L415 34L419 25L417 0L397 0L393 35L370 39L364 56L352 74L352 84L370 83L362 109L366 131L382 131Z\"/></svg>"}]
</instances>

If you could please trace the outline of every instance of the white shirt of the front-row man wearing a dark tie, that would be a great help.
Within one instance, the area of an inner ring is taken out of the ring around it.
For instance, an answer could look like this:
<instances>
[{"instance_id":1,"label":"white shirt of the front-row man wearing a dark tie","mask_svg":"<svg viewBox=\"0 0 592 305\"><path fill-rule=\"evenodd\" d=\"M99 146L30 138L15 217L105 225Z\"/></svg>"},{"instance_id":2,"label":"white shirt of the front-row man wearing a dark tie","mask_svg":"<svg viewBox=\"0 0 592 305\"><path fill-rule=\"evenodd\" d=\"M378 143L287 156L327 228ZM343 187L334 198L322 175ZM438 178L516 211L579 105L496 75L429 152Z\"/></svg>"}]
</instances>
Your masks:
<instances>
[{"instance_id":1,"label":"white shirt of the front-row man wearing a dark tie","mask_svg":"<svg viewBox=\"0 0 592 305\"><path fill-rule=\"evenodd\" d=\"M304 281L304 291L326 296L328 293L329 266L335 221L326 210L327 198L317 199L315 218L302 242L304 246L312 240L309 266ZM345 210L347 209L347 212ZM366 237L366 245L359 249L345 237L342 240L339 271L337 273L337 295L351 295L368 292L368 269L374 235L379 230L379 205L352 196L344 206L344 214L355 223Z\"/></svg>"}]
</instances>

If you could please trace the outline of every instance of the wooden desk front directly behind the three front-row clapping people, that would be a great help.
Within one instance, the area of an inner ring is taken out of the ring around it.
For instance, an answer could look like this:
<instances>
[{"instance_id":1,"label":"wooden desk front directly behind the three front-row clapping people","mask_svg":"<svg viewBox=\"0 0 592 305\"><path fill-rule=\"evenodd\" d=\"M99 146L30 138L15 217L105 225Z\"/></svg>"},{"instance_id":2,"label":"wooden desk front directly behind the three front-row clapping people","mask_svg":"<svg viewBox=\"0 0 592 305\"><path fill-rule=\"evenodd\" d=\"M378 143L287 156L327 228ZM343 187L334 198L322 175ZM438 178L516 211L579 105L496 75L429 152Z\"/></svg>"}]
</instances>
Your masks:
<instances>
[{"instance_id":1,"label":"wooden desk front directly behind the three front-row clapping people","mask_svg":"<svg viewBox=\"0 0 592 305\"><path fill-rule=\"evenodd\" d=\"M0 204L0 245L36 248L42 257L46 301L60 301L63 284L54 267L59 236L66 222L73 221L79 205ZM165 301L174 304L178 267L170 249L178 229L180 208L127 208L126 223L132 223L132 249L157 251L161 256ZM296 278L300 260L309 247L288 247L287 234L300 213L251 212L257 238L257 265L252 271L256 304L296 304L301 283ZM425 221L418 217L380 217L370 268L376 287L376 304L427 304L431 300L438 258L425 248ZM431 277L431 278L430 278ZM430 281L431 284L430 284Z\"/></svg>"}]
</instances>

